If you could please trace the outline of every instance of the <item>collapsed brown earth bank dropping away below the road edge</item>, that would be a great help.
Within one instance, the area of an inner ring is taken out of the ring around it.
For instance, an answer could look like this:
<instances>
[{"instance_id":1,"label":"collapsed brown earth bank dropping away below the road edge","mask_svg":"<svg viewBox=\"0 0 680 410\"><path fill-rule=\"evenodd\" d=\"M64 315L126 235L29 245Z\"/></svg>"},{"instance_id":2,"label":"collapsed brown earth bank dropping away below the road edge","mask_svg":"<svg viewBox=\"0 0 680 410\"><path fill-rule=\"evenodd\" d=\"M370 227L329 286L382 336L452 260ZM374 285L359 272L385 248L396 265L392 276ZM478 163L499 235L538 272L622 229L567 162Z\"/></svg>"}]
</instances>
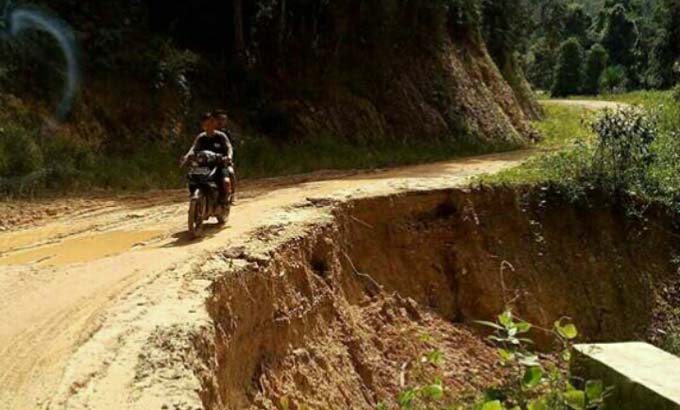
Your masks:
<instances>
[{"instance_id":1,"label":"collapsed brown earth bank dropping away below the road edge","mask_svg":"<svg viewBox=\"0 0 680 410\"><path fill-rule=\"evenodd\" d=\"M654 339L675 289L671 220L589 203L548 191L370 198L268 255L227 251L200 348L204 405L373 409L429 345L446 357L445 384L475 391L501 376L474 320L506 305L542 326L569 316L588 340Z\"/></svg>"}]
</instances>

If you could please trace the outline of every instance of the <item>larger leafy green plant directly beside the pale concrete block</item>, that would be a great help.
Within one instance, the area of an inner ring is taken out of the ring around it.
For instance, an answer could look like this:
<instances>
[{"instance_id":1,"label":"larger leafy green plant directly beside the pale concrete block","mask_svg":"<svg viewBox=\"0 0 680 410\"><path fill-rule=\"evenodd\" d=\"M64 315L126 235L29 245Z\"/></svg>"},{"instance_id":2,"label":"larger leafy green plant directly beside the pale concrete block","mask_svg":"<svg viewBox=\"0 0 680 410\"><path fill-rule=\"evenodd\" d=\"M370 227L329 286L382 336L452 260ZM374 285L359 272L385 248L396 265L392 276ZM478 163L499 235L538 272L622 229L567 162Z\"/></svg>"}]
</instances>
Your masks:
<instances>
[{"instance_id":1,"label":"larger leafy green plant directly beside the pale concrete block","mask_svg":"<svg viewBox=\"0 0 680 410\"><path fill-rule=\"evenodd\" d=\"M547 332L560 346L560 359L571 360L572 341L578 336L574 324L565 319L554 323L553 329L540 329L518 319L508 310L496 322L479 322L494 329L489 340L498 348L501 365L515 377L498 388L489 389L475 410L593 410L602 407L605 389L600 381L588 381L578 389L560 366L541 359L525 337L532 329Z\"/></svg>"}]
</instances>

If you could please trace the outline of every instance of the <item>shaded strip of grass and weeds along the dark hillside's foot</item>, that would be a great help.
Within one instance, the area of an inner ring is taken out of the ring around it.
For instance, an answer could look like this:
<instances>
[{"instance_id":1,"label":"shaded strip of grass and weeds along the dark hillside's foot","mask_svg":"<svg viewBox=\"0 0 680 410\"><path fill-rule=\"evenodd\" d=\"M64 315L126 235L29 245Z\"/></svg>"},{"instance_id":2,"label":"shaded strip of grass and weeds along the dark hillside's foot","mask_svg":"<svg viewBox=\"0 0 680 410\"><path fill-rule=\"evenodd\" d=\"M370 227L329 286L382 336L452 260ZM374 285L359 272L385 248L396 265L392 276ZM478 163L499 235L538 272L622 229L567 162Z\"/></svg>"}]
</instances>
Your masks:
<instances>
[{"instance_id":1,"label":"shaded strip of grass and weeds along the dark hillside's foot","mask_svg":"<svg viewBox=\"0 0 680 410\"><path fill-rule=\"evenodd\" d=\"M16 100L12 104L13 112L0 110L0 124L4 124L0 126L0 196L93 188L179 188L184 183L178 159L190 146L189 136L174 142L140 138L135 150L107 155L61 128L45 135L35 125L41 123L40 119ZM413 142L319 137L286 143L263 135L237 135L234 139L241 178L392 167L518 148L512 144L485 145L465 137Z\"/></svg>"}]
</instances>

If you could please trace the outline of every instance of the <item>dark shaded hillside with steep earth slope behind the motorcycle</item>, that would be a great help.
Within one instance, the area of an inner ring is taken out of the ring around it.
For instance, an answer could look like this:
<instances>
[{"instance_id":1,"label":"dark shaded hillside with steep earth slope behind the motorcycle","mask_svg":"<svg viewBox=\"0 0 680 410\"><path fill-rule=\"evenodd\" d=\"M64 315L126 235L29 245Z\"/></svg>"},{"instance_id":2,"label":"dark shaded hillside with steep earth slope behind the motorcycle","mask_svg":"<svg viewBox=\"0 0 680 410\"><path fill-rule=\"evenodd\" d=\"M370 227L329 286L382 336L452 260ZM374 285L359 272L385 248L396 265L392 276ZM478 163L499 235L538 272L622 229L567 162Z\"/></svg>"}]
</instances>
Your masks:
<instances>
[{"instance_id":1,"label":"dark shaded hillside with steep earth slope behind the motorcycle","mask_svg":"<svg viewBox=\"0 0 680 410\"><path fill-rule=\"evenodd\" d=\"M29 34L0 43L2 61L12 62L0 71L0 189L177 186L176 158L200 113L215 107L231 113L246 176L419 161L383 147L425 144L453 155L521 145L532 134L527 120L541 111L519 66L504 61L501 73L490 57L478 6L45 3L39 10L77 34L83 88L54 126L63 61L53 42ZM372 153L349 164L271 167L287 147L309 146L292 150L301 162L318 157L311 153L321 140L340 147L324 158L353 147Z\"/></svg>"}]
</instances>

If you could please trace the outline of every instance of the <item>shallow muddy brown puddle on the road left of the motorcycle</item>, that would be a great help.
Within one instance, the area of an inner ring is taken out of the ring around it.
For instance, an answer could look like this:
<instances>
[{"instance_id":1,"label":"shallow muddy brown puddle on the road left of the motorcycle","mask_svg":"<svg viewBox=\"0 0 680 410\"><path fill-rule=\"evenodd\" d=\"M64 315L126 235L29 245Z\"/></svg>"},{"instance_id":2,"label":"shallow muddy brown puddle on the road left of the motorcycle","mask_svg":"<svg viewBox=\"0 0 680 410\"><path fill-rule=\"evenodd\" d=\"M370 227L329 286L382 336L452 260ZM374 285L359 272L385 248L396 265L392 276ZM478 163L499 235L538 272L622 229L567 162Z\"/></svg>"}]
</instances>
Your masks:
<instances>
[{"instance_id":1,"label":"shallow muddy brown puddle on the road left of the motorcycle","mask_svg":"<svg viewBox=\"0 0 680 410\"><path fill-rule=\"evenodd\" d=\"M111 231L65 239L35 249L0 256L0 265L30 263L63 266L84 263L128 251L136 245L159 237L162 231Z\"/></svg>"}]
</instances>

